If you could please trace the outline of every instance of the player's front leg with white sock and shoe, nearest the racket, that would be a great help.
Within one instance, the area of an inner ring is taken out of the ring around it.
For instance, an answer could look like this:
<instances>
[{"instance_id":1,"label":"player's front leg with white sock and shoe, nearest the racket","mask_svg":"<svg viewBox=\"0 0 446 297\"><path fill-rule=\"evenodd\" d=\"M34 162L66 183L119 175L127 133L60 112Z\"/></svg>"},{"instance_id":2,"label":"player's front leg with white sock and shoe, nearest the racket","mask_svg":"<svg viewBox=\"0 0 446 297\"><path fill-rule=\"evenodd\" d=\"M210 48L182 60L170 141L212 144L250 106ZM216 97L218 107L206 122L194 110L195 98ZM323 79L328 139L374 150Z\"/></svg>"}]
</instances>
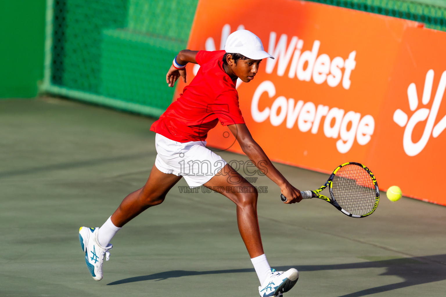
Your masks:
<instances>
[{"instance_id":1,"label":"player's front leg with white sock and shoe, nearest the racket","mask_svg":"<svg viewBox=\"0 0 446 297\"><path fill-rule=\"evenodd\" d=\"M226 164L219 174L212 177L204 186L218 191L235 203L240 235L260 281L260 296L280 296L293 288L299 276L297 270L277 272L271 269L264 254L257 219L256 187L248 183L229 164Z\"/></svg>"}]
</instances>

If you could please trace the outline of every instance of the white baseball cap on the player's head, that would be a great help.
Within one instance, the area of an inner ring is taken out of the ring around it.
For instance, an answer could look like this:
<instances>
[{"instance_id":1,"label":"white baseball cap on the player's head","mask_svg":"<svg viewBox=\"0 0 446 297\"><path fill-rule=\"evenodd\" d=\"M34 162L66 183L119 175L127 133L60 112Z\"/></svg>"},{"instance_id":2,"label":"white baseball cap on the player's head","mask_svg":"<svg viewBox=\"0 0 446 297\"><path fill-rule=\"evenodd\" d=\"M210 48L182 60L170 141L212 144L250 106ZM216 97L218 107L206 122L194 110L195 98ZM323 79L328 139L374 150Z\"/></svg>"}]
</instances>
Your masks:
<instances>
[{"instance_id":1,"label":"white baseball cap on the player's head","mask_svg":"<svg viewBox=\"0 0 446 297\"><path fill-rule=\"evenodd\" d=\"M226 53L241 53L252 60L272 58L263 49L262 41L256 34L248 30L237 30L227 37L224 50Z\"/></svg>"}]
</instances>

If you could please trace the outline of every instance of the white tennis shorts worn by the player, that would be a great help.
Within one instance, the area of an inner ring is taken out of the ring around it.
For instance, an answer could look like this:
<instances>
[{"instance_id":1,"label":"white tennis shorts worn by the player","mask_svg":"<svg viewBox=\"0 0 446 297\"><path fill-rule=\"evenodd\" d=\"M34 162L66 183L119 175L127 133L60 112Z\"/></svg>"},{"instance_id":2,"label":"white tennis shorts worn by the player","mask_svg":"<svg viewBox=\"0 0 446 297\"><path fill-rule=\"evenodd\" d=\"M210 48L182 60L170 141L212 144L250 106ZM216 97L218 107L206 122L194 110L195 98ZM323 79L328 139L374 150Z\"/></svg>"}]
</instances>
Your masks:
<instances>
[{"instance_id":1,"label":"white tennis shorts worn by the player","mask_svg":"<svg viewBox=\"0 0 446 297\"><path fill-rule=\"evenodd\" d=\"M178 142L157 133L155 146L158 170L184 176L189 187L199 187L208 182L227 164L206 148L206 141Z\"/></svg>"}]
</instances>

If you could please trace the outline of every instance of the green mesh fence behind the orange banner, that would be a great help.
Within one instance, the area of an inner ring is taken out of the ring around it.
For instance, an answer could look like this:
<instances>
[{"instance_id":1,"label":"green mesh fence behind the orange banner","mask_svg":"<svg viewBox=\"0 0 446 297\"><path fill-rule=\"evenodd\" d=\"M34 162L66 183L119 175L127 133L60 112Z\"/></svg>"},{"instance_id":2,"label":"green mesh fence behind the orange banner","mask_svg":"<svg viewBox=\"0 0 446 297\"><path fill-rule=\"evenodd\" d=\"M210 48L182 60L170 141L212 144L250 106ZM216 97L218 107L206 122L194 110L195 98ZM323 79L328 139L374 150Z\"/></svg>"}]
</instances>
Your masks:
<instances>
[{"instance_id":1,"label":"green mesh fence behind the orange banner","mask_svg":"<svg viewBox=\"0 0 446 297\"><path fill-rule=\"evenodd\" d=\"M310 0L446 31L446 0ZM198 0L47 0L45 79L53 94L159 116L165 73L189 38Z\"/></svg>"}]
</instances>

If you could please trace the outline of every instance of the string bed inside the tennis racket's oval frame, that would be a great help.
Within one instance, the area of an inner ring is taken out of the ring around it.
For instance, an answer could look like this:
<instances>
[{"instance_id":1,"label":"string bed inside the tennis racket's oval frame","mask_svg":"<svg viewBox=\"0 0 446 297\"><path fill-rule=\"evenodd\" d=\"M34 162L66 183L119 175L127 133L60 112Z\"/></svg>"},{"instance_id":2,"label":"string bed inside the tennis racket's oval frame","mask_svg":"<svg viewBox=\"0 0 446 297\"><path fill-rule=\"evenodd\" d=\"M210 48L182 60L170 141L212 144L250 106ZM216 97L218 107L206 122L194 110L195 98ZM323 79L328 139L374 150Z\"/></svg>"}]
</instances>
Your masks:
<instances>
[{"instance_id":1,"label":"string bed inside the tennis racket's oval frame","mask_svg":"<svg viewBox=\"0 0 446 297\"><path fill-rule=\"evenodd\" d=\"M375 205L375 184L369 173L358 165L341 167L335 174L331 190L339 206L352 215L365 215Z\"/></svg>"}]
</instances>

